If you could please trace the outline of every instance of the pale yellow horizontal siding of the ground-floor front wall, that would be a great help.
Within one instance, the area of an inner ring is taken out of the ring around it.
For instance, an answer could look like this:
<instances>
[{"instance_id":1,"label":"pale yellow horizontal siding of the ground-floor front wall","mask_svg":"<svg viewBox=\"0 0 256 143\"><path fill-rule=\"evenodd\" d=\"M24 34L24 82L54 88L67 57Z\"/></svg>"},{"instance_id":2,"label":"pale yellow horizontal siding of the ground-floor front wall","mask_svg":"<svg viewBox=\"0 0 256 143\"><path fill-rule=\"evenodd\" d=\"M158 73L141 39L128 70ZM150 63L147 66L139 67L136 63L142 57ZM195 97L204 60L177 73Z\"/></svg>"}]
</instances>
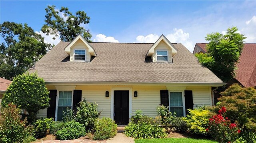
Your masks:
<instances>
[{"instance_id":1,"label":"pale yellow horizontal siding of the ground-floor front wall","mask_svg":"<svg viewBox=\"0 0 256 143\"><path fill-rule=\"evenodd\" d=\"M98 111L102 112L100 118L109 117L111 111L111 88L112 87L132 87L132 114L136 110L142 110L143 114L156 117L156 107L160 104L160 90L166 90L166 86L76 86L76 90L82 90L82 99L88 102L96 102ZM55 89L53 86L47 86ZM211 88L209 86L187 86L186 90L192 90L194 108L198 106L211 106ZM109 97L105 97L105 92L109 91ZM138 97L134 97L134 91L138 92ZM46 117L47 110L40 110L38 116Z\"/></svg>"}]
</instances>

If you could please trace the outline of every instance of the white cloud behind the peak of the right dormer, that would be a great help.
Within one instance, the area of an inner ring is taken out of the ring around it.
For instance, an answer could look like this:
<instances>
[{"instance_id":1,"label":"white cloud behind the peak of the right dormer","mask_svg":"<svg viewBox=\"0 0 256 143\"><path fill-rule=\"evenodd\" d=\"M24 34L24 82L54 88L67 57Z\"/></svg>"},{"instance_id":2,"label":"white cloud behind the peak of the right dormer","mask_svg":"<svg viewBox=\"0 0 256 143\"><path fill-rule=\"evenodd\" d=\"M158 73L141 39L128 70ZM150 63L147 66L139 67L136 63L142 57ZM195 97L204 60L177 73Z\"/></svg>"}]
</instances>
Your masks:
<instances>
[{"instance_id":1,"label":"white cloud behind the peak of the right dormer","mask_svg":"<svg viewBox=\"0 0 256 143\"><path fill-rule=\"evenodd\" d=\"M166 35L166 38L171 43L182 43L189 51L193 51L193 42L190 40L189 33L184 32L182 29L173 29L174 33ZM136 37L135 43L155 43L159 35L149 34L146 36L139 35Z\"/></svg>"}]
</instances>

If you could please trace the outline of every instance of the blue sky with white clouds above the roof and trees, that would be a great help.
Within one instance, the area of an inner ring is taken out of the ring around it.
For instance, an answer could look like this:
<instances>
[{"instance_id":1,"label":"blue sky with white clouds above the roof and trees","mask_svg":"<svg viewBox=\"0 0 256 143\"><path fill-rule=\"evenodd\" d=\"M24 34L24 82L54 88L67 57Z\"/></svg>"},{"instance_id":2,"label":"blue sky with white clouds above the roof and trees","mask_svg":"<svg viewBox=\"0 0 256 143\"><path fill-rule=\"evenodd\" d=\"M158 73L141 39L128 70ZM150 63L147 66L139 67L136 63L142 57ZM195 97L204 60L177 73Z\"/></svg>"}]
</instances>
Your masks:
<instances>
[{"instance_id":1,"label":"blue sky with white clouds above the roof and trees","mask_svg":"<svg viewBox=\"0 0 256 143\"><path fill-rule=\"evenodd\" d=\"M171 43L182 43L191 52L196 43L207 43L207 33L225 33L238 27L256 43L256 0L254 1L0 1L0 23L26 23L45 42L59 38L40 31L48 5L82 10L90 17L84 26L94 42L154 43L164 34ZM1 38L2 41L2 38Z\"/></svg>"}]
</instances>

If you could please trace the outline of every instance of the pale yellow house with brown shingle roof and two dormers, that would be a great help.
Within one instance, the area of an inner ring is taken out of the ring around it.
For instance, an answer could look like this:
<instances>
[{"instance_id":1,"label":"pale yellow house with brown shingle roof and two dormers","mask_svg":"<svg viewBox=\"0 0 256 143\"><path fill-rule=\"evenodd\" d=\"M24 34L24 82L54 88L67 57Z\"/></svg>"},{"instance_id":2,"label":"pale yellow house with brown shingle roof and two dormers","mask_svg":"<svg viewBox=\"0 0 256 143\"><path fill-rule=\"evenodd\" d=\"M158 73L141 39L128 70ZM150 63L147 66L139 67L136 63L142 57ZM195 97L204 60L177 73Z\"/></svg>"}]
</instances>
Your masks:
<instances>
[{"instance_id":1,"label":"pale yellow house with brown shingle roof and two dormers","mask_svg":"<svg viewBox=\"0 0 256 143\"><path fill-rule=\"evenodd\" d=\"M196 106L212 106L212 87L223 83L182 44L162 35L156 43L88 43L82 35L60 42L29 72L44 78L50 107L38 116L60 120L81 99L96 102L101 117L128 124L136 110L156 117L169 106L185 116Z\"/></svg>"}]
</instances>

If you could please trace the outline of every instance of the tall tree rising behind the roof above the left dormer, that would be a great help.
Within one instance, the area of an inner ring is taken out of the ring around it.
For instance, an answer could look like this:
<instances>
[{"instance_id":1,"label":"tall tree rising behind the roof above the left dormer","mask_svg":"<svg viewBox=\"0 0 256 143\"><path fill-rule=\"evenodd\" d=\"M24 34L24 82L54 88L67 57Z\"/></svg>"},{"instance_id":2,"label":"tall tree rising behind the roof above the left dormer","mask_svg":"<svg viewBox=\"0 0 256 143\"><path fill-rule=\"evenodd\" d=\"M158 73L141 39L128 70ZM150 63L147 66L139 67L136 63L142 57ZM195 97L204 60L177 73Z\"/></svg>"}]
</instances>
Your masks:
<instances>
[{"instance_id":1,"label":"tall tree rising behind the roof above the left dormer","mask_svg":"<svg viewBox=\"0 0 256 143\"><path fill-rule=\"evenodd\" d=\"M90 17L84 11L79 10L73 15L63 6L60 10L55 9L55 6L47 6L45 11L46 24L41 29L43 33L55 35L53 39L60 35L62 41L72 41L77 35L82 34L87 41L90 41L92 37L90 30L82 27L82 24L90 22Z\"/></svg>"}]
</instances>

